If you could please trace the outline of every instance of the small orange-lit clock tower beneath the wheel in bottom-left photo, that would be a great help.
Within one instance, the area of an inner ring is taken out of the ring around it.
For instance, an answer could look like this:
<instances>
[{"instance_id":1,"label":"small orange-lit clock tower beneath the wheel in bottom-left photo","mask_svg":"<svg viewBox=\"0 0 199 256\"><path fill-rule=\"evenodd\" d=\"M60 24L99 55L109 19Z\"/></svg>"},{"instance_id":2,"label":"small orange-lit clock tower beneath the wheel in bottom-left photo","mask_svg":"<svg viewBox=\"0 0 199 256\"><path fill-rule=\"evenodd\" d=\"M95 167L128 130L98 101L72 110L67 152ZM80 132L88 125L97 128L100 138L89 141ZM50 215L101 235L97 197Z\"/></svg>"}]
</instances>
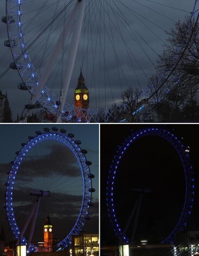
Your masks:
<instances>
[{"instance_id":1,"label":"small orange-lit clock tower beneath the wheel in bottom-left photo","mask_svg":"<svg viewBox=\"0 0 199 256\"><path fill-rule=\"evenodd\" d=\"M45 224L43 226L43 239L44 239L44 247L48 252L52 251L53 247L53 226L50 222L49 215L46 218Z\"/></svg>"}]
</instances>

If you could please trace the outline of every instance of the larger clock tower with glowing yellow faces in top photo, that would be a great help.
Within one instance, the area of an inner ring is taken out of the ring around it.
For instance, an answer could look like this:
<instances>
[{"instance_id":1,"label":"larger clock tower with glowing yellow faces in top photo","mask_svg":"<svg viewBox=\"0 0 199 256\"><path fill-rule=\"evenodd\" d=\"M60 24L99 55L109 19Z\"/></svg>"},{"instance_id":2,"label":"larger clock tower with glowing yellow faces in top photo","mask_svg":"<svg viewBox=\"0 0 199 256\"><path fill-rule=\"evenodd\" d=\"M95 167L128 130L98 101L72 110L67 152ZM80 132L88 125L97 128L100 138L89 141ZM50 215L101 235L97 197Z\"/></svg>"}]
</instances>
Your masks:
<instances>
[{"instance_id":1,"label":"larger clock tower with glowing yellow faces in top photo","mask_svg":"<svg viewBox=\"0 0 199 256\"><path fill-rule=\"evenodd\" d=\"M88 88L85 85L85 79L80 71L80 76L78 78L78 85L75 88L74 93L74 102L76 107L76 114L81 119L81 121L86 121L86 117L83 111L79 109L88 109L89 108L89 92Z\"/></svg>"}]
</instances>

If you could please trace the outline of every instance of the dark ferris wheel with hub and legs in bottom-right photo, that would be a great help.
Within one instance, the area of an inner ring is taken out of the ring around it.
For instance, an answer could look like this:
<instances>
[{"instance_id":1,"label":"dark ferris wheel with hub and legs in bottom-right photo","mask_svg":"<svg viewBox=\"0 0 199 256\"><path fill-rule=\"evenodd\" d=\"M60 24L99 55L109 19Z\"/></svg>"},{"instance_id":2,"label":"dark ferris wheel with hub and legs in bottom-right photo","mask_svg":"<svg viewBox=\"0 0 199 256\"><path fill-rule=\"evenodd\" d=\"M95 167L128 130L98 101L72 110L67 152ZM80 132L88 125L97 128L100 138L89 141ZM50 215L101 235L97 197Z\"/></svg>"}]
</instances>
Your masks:
<instances>
[{"instance_id":1,"label":"dark ferris wheel with hub and legs in bottom-right photo","mask_svg":"<svg viewBox=\"0 0 199 256\"><path fill-rule=\"evenodd\" d=\"M184 146L182 141L172 132L169 130L166 130L164 128L145 128L145 129L140 129L137 132L132 133L125 141L118 147L117 152L115 153L113 157L113 161L110 167L110 171L108 173L108 178L107 178L107 188L106 188L106 202L107 202L107 210L108 210L108 216L110 217L110 221L112 223L112 227L114 230L114 234L118 237L120 240L121 244L124 245L129 244L130 242L134 242L134 240L131 240L131 237L127 235L127 228L130 227L130 222L132 222L132 218L134 215L137 215L136 208L140 209L140 203L141 203L141 197L143 193L150 193L150 189L132 189L136 192L142 193L140 196L139 200L136 201L137 205L134 205L132 214L130 214L129 220L126 220L125 227L124 223L123 225L121 224L121 218L118 218L118 199L117 196L115 196L115 190L117 187L116 179L117 175L119 174L118 172L121 170L120 165L121 162L125 156L125 153L127 151L130 151L131 145L136 143L136 141L142 140L142 138L150 137L150 136L157 136L157 138L162 138L165 141L168 141L172 147L174 147L175 151L178 154L179 159L182 162L183 170L184 170L184 177L185 177L185 197L184 197L184 202L183 202L183 207L182 211L179 214L177 223L175 223L175 227L170 231L170 234L162 240L162 243L174 243L175 241L175 234L178 232L182 232L187 225L187 220L191 214L192 206L194 203L194 172L193 172L193 167L191 165L190 157L189 157L189 147ZM142 152L142 151L141 151ZM132 161L132 159L131 159ZM133 161L132 161L133 162ZM163 163L161 163L163 165ZM127 165L128 167L131 166L130 163ZM147 168L148 170L149 168ZM149 169L150 170L150 169ZM137 170L136 170L137 171ZM161 171L161 168L160 170ZM144 175L144 174L143 174ZM125 177L129 178L129 174L126 174ZM143 178L143 177L142 177ZM130 178L129 178L130 179ZM156 179L155 179L156 180ZM120 180L121 183L121 180ZM158 181L156 180L156 183ZM123 185L124 186L124 185ZM157 186L157 185L156 185ZM154 198L153 198L154 200ZM129 198L130 201L130 198ZM128 201L128 205L130 204ZM126 201L125 201L126 202ZM150 205L151 206L151 205ZM161 206L160 206L161 208ZM121 209L121 202L120 202L120 209ZM125 209L123 209L125 211ZM146 211L150 211L150 209L146 209ZM138 213L139 215L139 213ZM137 219L138 219L137 215ZM136 219L136 217L134 217ZM142 220L143 221L143 220ZM134 239L134 235L136 232L137 228L137 223L134 222L132 228L132 235ZM159 223L159 222L158 222ZM152 230L150 230L152 232ZM131 233L131 232L130 232Z\"/></svg>"}]
</instances>

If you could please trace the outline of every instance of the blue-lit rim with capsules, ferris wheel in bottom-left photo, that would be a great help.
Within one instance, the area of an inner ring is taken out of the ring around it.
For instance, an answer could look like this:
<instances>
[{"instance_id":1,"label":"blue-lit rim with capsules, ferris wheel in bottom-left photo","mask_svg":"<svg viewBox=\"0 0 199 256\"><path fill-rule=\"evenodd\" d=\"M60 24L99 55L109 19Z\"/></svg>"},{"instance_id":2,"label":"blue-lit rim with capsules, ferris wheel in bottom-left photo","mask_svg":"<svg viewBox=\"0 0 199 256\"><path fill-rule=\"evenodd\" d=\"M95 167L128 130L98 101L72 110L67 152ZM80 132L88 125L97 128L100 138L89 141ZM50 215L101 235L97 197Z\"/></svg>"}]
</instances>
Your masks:
<instances>
[{"instance_id":1,"label":"blue-lit rim with capsules, ferris wheel in bottom-left photo","mask_svg":"<svg viewBox=\"0 0 199 256\"><path fill-rule=\"evenodd\" d=\"M55 127L54 127L55 128ZM45 129L45 128L44 128ZM49 129L48 129L49 130ZM85 149L80 148L80 141L79 140L73 140L73 134L65 135L65 130L60 130L63 133L57 132L57 128L55 128L55 131L53 132L46 132L41 133L40 131L37 131L36 136L29 136L29 141L26 143L22 143L22 148L20 151L16 152L16 158L12 163L8 181L5 184L6 185L6 203L5 203L5 209L7 211L8 221L10 224L10 228L12 232L15 235L15 238L18 240L20 239L20 229L17 226L17 222L14 215L14 209L12 207L12 196L13 196L13 188L15 184L15 178L17 175L18 168L20 167L23 158L25 155L36 146L38 143L41 143L43 141L47 140L54 140L59 141L63 145L66 145L70 151L74 154L76 160L78 161L79 168L81 170L81 176L82 176L82 185L83 185L83 193L82 193L82 202L81 202L81 209L79 216L74 224L74 227L70 230L69 234L64 238L61 242L57 244L57 248L63 249L70 245L71 243L71 235L78 235L81 231L81 229L84 227L84 224L86 220L89 220L89 209L93 206L92 203L92 192L95 191L94 188L92 188L92 178L94 178L94 175L91 174L89 165L92 163L86 159L85 154L87 151ZM26 244L27 240L22 237L21 243Z\"/></svg>"}]
</instances>

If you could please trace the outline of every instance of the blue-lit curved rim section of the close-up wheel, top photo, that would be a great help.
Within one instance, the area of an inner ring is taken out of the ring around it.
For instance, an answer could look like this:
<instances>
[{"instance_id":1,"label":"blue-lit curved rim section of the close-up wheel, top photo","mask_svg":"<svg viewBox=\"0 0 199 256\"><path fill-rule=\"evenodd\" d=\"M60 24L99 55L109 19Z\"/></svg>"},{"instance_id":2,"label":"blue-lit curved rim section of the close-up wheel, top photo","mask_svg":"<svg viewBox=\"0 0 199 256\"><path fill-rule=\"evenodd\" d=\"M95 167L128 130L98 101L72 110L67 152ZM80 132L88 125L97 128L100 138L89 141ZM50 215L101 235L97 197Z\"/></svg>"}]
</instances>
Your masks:
<instances>
[{"instance_id":1,"label":"blue-lit curved rim section of the close-up wheel, top photo","mask_svg":"<svg viewBox=\"0 0 199 256\"><path fill-rule=\"evenodd\" d=\"M14 58L16 69L18 70L23 84L27 86L27 89L34 96L34 93L38 86L40 85L40 76L38 75L35 67L30 59L28 49L24 39L23 26L21 16L23 15L22 9L23 4L26 0L7 0L7 30L9 43L12 52L12 57ZM29 1L28 1L29 2ZM69 3L74 3L75 1L69 1ZM76 2L87 2L86 0L76 0ZM195 0L193 10L191 12L191 18L194 17L194 14L198 11L197 4L199 5L198 0ZM19 42L19 47L14 47L15 41ZM63 90L64 91L64 90ZM145 92L144 92L145 93ZM62 97L62 96L60 96ZM77 108L74 105L69 103L64 103L61 113L59 113L60 97L57 97L46 84L36 97L36 102L39 103L44 109L54 116L60 115L60 120L65 122L81 122L80 118L74 116L77 113ZM34 105L34 104L33 104ZM31 104L30 104L31 106ZM31 107L30 107L31 108ZM114 118L114 114L111 115L110 112L115 109L104 108L104 109L78 109L81 113L83 119L86 119L87 122L94 120L94 122L100 122L100 117L105 116L104 120L107 121L108 117Z\"/></svg>"}]
</instances>

